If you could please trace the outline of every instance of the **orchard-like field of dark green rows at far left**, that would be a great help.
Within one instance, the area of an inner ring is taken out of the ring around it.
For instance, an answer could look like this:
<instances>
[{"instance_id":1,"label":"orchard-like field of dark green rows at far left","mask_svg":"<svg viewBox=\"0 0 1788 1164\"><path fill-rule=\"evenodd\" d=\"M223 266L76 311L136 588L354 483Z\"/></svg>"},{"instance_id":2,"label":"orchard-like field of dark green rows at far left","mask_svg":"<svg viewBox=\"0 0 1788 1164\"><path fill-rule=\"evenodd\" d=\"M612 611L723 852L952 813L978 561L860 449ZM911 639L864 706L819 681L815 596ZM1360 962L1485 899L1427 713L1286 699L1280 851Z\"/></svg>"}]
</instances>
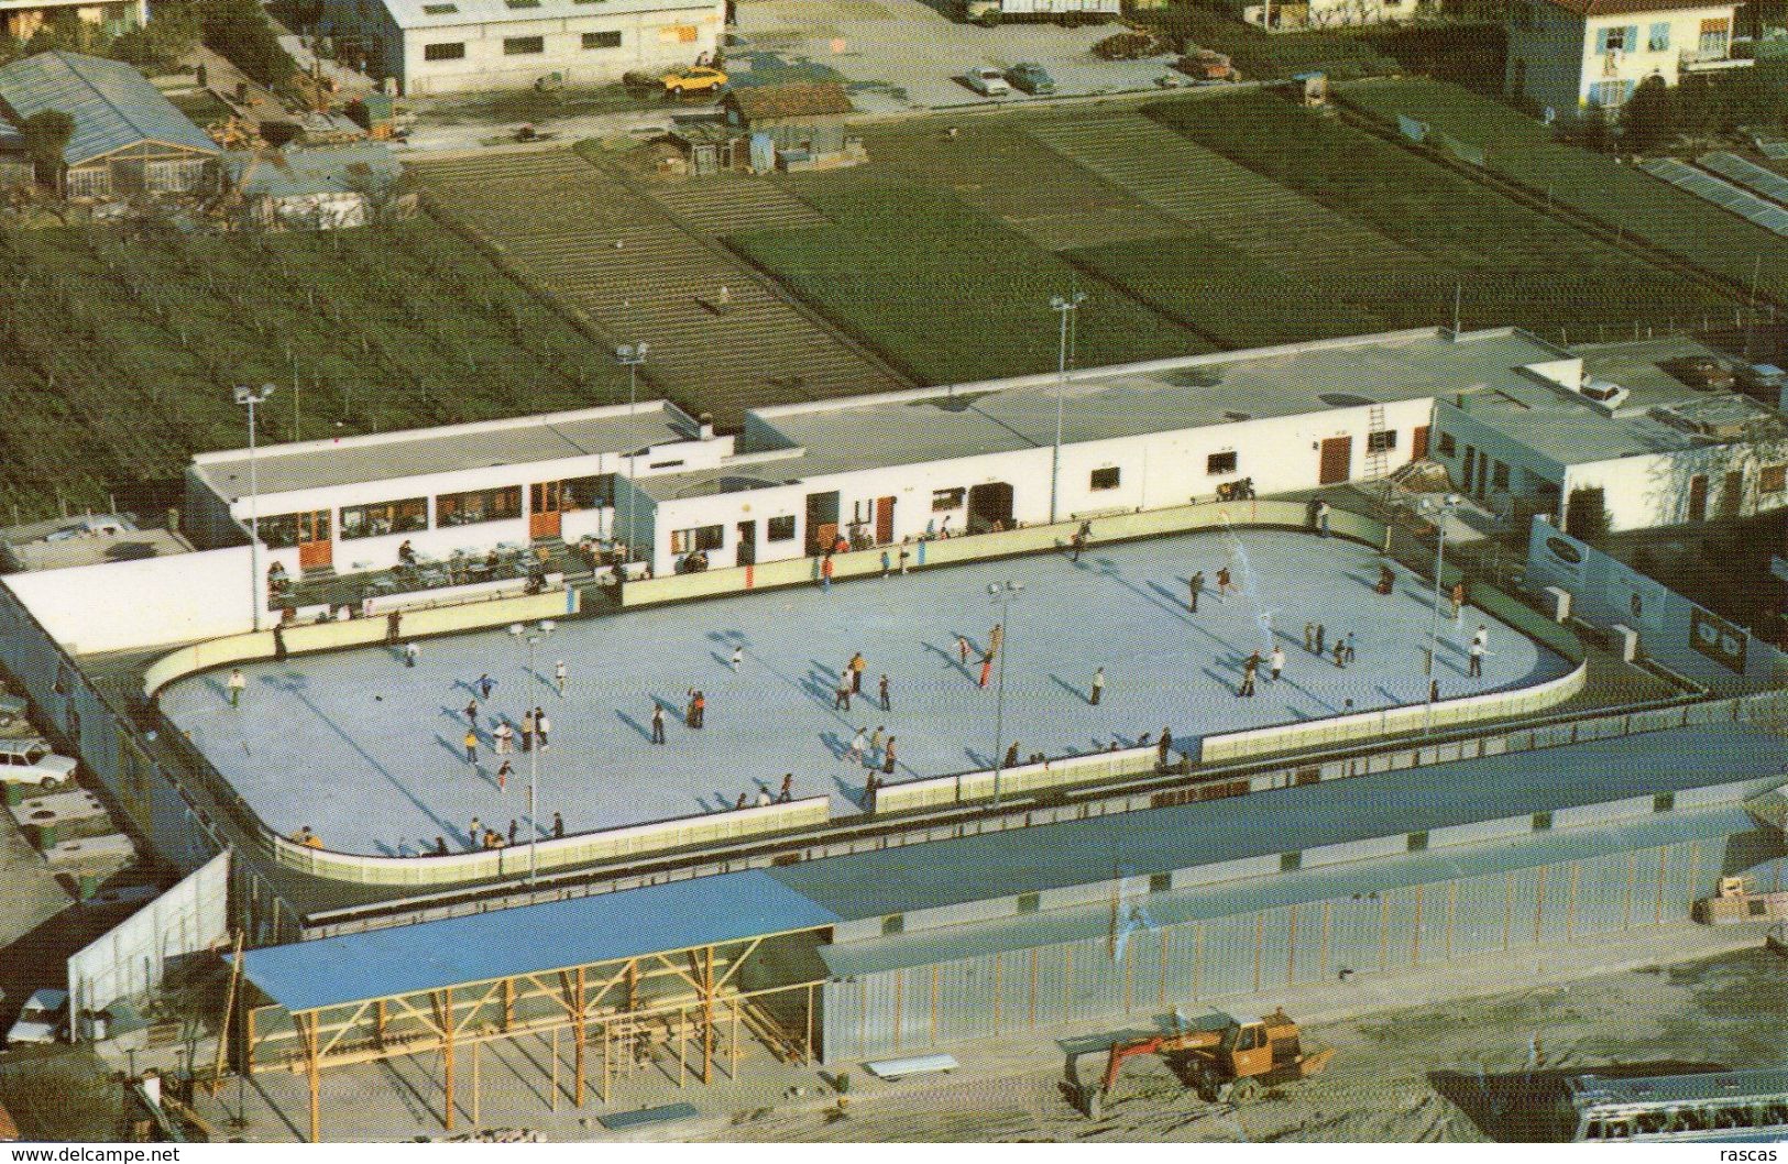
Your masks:
<instances>
[{"instance_id":1,"label":"orchard-like field of dark green rows at far left","mask_svg":"<svg viewBox=\"0 0 1788 1164\"><path fill-rule=\"evenodd\" d=\"M263 440L624 399L601 349L429 218L329 234L0 234L0 513L105 504Z\"/></svg>"}]
</instances>

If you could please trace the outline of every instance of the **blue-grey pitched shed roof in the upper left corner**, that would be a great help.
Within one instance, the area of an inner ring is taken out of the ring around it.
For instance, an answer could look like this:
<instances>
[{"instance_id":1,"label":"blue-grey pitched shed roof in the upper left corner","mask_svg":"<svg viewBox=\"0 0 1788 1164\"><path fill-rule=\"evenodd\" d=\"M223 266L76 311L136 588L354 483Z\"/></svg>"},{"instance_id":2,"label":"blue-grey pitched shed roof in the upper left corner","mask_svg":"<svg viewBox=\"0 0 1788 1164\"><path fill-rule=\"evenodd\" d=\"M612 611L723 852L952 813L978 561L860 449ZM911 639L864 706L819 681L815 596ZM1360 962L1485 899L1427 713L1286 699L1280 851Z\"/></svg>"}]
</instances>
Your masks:
<instances>
[{"instance_id":1,"label":"blue-grey pitched shed roof in the upper left corner","mask_svg":"<svg viewBox=\"0 0 1788 1164\"><path fill-rule=\"evenodd\" d=\"M39 52L0 68L0 102L23 122L45 109L75 118L75 136L63 150L70 166L138 141L216 154L206 131L173 107L148 77L123 61L79 52Z\"/></svg>"}]
</instances>

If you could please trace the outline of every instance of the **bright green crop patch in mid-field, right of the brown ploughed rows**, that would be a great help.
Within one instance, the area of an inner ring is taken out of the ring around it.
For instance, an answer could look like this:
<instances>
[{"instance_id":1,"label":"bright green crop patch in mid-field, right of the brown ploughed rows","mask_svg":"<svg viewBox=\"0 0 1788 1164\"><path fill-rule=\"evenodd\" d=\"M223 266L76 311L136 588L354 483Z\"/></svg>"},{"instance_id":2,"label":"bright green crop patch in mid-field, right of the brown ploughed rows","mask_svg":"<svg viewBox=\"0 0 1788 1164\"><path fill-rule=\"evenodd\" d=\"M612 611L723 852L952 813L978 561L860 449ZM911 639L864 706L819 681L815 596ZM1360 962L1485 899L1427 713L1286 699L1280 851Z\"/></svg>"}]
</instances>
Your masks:
<instances>
[{"instance_id":1,"label":"bright green crop patch in mid-field, right of the brown ploughed rows","mask_svg":"<svg viewBox=\"0 0 1788 1164\"><path fill-rule=\"evenodd\" d=\"M1076 286L1087 293L1080 365L1214 350L949 193L865 173L790 188L831 222L749 231L731 245L919 383L1053 368L1050 299Z\"/></svg>"}]
</instances>

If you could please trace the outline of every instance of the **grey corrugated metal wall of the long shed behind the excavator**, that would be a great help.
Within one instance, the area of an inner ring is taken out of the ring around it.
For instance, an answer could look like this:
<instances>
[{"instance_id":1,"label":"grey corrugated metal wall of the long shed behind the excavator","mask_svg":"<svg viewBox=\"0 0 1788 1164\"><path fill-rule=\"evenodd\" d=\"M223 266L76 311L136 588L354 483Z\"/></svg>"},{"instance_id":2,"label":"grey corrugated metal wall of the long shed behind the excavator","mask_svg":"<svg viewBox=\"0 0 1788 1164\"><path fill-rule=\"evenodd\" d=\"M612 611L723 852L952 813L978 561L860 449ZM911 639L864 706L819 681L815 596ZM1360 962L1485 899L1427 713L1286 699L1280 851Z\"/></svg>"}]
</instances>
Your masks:
<instances>
[{"instance_id":1,"label":"grey corrugated metal wall of the long shed behind the excavator","mask_svg":"<svg viewBox=\"0 0 1788 1164\"><path fill-rule=\"evenodd\" d=\"M1736 849L1734 849L1736 851ZM1631 849L1203 923L989 953L831 982L824 1059L876 1059L1028 1026L1434 966L1686 921L1727 842ZM1750 869L1781 887L1784 860Z\"/></svg>"}]
</instances>

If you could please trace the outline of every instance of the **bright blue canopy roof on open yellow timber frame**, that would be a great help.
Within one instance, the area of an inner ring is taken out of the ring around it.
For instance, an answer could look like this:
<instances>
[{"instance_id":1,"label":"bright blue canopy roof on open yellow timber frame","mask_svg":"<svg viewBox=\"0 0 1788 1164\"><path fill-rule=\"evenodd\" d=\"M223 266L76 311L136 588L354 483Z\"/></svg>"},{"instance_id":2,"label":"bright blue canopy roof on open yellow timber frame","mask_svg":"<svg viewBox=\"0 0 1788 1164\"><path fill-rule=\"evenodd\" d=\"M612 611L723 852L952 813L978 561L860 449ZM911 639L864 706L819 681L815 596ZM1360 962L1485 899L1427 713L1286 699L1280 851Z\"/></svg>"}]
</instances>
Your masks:
<instances>
[{"instance_id":1,"label":"bright blue canopy roof on open yellow timber frame","mask_svg":"<svg viewBox=\"0 0 1788 1164\"><path fill-rule=\"evenodd\" d=\"M243 974L286 1010L440 991L830 926L839 915L762 871L250 949Z\"/></svg>"}]
</instances>

